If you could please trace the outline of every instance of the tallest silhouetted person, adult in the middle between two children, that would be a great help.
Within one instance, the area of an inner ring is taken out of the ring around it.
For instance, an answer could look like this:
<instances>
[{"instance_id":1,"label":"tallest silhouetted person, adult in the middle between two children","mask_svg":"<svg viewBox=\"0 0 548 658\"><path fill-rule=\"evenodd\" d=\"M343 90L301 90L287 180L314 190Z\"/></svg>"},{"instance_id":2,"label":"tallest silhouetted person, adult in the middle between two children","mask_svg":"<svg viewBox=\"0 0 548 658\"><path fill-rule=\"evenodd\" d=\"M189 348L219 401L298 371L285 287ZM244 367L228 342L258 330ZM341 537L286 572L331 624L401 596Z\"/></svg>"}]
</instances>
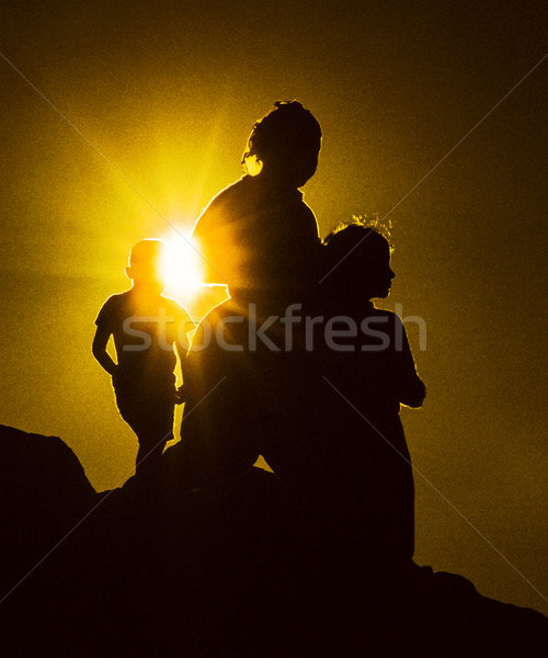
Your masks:
<instances>
[{"instance_id":1,"label":"tallest silhouetted person, adult in the middle between two children","mask_svg":"<svg viewBox=\"0 0 548 658\"><path fill-rule=\"evenodd\" d=\"M230 293L202 321L185 362L182 440L206 479L252 466L284 431L286 401L300 388L302 337L286 320L311 304L318 282L318 225L299 188L316 172L320 147L308 110L275 103L253 126L246 174L194 227L206 281Z\"/></svg>"}]
</instances>

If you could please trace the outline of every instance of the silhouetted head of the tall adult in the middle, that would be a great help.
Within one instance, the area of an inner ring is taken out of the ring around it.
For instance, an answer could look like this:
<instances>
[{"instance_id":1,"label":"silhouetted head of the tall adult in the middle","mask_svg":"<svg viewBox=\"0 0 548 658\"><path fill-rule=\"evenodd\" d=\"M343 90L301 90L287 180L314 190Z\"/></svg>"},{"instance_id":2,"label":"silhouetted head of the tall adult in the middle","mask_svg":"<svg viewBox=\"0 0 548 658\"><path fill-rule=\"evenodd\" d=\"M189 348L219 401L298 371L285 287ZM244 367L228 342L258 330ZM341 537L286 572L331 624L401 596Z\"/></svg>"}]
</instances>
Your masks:
<instances>
[{"instance_id":1,"label":"silhouetted head of the tall adult in the middle","mask_svg":"<svg viewBox=\"0 0 548 658\"><path fill-rule=\"evenodd\" d=\"M277 101L274 105L253 126L242 164L250 175L300 188L318 167L320 124L298 101Z\"/></svg>"}]
</instances>

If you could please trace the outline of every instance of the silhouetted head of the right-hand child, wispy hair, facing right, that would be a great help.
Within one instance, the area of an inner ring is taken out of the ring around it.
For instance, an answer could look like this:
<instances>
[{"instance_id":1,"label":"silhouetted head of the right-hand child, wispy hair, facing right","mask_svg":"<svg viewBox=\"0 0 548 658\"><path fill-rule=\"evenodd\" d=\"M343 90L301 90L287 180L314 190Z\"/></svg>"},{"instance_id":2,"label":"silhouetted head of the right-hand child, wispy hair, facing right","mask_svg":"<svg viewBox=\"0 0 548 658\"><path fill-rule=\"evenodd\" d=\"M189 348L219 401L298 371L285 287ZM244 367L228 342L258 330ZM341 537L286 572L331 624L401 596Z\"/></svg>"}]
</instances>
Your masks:
<instances>
[{"instance_id":1,"label":"silhouetted head of the right-hand child, wispy hair, facing right","mask_svg":"<svg viewBox=\"0 0 548 658\"><path fill-rule=\"evenodd\" d=\"M367 299L389 295L395 277L391 248L374 227L350 224L330 234L326 243L328 287Z\"/></svg>"}]
</instances>

